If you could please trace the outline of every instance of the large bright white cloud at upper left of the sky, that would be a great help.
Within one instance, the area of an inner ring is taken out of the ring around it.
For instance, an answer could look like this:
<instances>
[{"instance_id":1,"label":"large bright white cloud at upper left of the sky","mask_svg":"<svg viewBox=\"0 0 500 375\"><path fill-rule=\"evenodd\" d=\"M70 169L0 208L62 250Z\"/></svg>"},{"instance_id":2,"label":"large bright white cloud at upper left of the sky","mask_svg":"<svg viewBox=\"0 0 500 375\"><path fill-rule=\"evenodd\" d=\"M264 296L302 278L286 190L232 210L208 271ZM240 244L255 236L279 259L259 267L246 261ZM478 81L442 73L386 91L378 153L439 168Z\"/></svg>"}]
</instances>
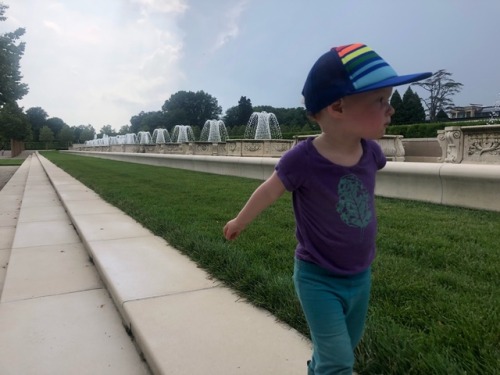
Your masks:
<instances>
[{"instance_id":1,"label":"large bright white cloud at upper left of the sky","mask_svg":"<svg viewBox=\"0 0 500 375\"><path fill-rule=\"evenodd\" d=\"M159 110L185 78L177 19L186 9L180 0L12 6L16 23L27 25L22 72L30 93L20 104L96 129L103 121L117 127L141 110Z\"/></svg>"}]
</instances>

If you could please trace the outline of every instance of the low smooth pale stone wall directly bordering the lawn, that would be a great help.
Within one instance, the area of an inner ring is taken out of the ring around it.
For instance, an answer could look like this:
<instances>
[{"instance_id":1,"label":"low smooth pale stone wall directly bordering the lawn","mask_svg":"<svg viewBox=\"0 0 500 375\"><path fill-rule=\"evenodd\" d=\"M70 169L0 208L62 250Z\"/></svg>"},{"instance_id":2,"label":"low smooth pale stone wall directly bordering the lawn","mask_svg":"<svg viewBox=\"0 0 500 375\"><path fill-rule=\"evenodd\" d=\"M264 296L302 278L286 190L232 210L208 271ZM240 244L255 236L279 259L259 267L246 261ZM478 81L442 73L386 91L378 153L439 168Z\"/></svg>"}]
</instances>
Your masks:
<instances>
[{"instance_id":1,"label":"low smooth pale stone wall directly bordering the lawn","mask_svg":"<svg viewBox=\"0 0 500 375\"><path fill-rule=\"evenodd\" d=\"M153 153L77 152L131 163L265 180L278 158ZM377 173L379 196L500 211L500 165L388 162Z\"/></svg>"}]
</instances>

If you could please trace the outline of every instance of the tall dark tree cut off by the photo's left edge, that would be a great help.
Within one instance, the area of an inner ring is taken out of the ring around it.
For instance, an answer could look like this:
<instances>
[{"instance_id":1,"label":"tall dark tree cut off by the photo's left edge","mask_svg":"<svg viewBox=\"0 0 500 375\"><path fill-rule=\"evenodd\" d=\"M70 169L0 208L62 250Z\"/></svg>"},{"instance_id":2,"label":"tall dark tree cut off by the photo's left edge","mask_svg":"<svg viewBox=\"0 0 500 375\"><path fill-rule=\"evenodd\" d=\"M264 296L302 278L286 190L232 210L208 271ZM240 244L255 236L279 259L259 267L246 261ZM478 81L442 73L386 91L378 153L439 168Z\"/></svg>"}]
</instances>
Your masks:
<instances>
[{"instance_id":1,"label":"tall dark tree cut off by the photo's left edge","mask_svg":"<svg viewBox=\"0 0 500 375\"><path fill-rule=\"evenodd\" d=\"M0 21L5 21L7 5L0 3ZM0 35L0 106L22 99L28 93L28 85L21 83L20 61L24 54L24 42L18 42L25 33L23 28Z\"/></svg>"}]
</instances>

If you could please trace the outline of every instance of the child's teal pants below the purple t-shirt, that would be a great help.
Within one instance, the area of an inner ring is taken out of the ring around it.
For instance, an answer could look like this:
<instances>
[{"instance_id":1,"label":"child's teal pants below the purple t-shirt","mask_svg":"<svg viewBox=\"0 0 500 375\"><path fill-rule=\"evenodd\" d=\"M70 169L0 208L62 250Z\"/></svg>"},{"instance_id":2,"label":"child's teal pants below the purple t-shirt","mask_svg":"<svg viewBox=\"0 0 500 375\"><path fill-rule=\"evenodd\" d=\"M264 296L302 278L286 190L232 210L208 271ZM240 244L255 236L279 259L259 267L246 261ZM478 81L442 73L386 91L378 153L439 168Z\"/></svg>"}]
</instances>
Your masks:
<instances>
[{"instance_id":1,"label":"child's teal pants below the purple t-shirt","mask_svg":"<svg viewBox=\"0 0 500 375\"><path fill-rule=\"evenodd\" d=\"M308 375L352 375L368 311L370 269L339 276L296 259L293 280L313 343Z\"/></svg>"}]
</instances>

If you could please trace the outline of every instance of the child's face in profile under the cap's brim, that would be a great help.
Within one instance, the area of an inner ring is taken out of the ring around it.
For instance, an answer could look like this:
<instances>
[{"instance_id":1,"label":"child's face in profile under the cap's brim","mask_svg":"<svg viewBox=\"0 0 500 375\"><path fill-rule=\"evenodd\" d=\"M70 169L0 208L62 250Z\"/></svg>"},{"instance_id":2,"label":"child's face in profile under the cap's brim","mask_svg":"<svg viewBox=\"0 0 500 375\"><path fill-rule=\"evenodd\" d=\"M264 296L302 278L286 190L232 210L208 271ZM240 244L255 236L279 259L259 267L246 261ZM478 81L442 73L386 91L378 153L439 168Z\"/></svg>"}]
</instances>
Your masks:
<instances>
[{"instance_id":1,"label":"child's face in profile under the cap's brim","mask_svg":"<svg viewBox=\"0 0 500 375\"><path fill-rule=\"evenodd\" d=\"M343 98L342 117L346 130L360 138L381 138L394 114L394 108L389 104L391 94L392 87L386 87Z\"/></svg>"}]
</instances>

